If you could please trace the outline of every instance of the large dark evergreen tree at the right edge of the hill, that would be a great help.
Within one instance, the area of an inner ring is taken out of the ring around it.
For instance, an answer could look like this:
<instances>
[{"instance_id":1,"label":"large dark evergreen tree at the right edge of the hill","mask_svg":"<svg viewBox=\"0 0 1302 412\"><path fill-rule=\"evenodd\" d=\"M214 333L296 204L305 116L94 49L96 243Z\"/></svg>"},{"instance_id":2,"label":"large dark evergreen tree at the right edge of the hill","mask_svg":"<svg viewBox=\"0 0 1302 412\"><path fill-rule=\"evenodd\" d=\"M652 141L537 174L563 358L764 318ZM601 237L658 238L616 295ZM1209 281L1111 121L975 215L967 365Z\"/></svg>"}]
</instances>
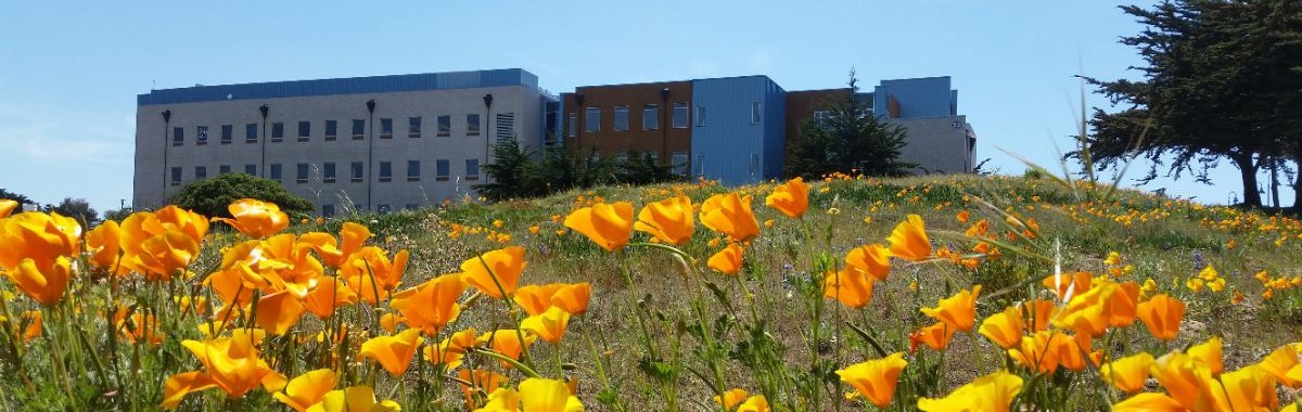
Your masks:
<instances>
[{"instance_id":1,"label":"large dark evergreen tree at the right edge of the hill","mask_svg":"<svg viewBox=\"0 0 1302 412\"><path fill-rule=\"evenodd\" d=\"M1256 173L1277 159L1302 160L1302 3L1177 0L1122 12L1146 27L1125 36L1143 79L1087 78L1121 110L1095 109L1088 155L1103 170L1139 156L1180 178L1229 160L1243 203L1260 207ZM1302 179L1294 185L1302 185ZM1298 187L1302 188L1302 187ZM1302 196L1302 194L1299 194Z\"/></svg>"}]
</instances>

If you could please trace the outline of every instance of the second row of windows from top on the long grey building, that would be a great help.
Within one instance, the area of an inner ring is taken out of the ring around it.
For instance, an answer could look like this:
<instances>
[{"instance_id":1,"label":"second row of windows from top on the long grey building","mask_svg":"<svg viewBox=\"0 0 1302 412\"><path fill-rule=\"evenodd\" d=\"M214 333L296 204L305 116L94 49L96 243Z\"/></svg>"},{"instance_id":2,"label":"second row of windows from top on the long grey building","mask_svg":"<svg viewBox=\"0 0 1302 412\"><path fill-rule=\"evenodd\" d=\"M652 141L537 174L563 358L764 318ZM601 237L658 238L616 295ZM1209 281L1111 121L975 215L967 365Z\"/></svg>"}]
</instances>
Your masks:
<instances>
[{"instance_id":1,"label":"second row of windows from top on the long grey building","mask_svg":"<svg viewBox=\"0 0 1302 412\"><path fill-rule=\"evenodd\" d=\"M311 175L312 175L311 170L315 168L315 165L301 162L301 164L296 164L294 166L296 166L296 169L294 169L294 172L296 172L294 181L297 183L307 183L309 181L311 181ZM366 181L366 164L365 162L362 162L362 161L353 161L353 162L349 162L348 166L349 166L349 169L348 169L348 172L349 172L348 173L348 179L350 182L365 182ZM181 185L181 181L184 179L184 175L182 175L184 172L185 170L181 166L173 166L172 168L172 170L171 170L171 173L172 173L172 175L171 175L172 177L172 179L171 179L172 186L180 186ZM284 165L281 165L279 162L271 164L267 168L267 178L270 178L272 181L276 181L276 182L283 182L284 172L285 172L284 170ZM393 181L393 162L392 161L381 161L379 172L380 172L379 173L379 179L378 179L379 182L392 182ZM448 159L435 160L434 161L434 172L435 172L434 179L436 182L445 182L445 181L452 179L452 161L448 160ZM479 179L479 159L466 159L465 160L465 169L462 169L462 172L465 173L465 174L462 174L462 177L466 181L478 181ZM220 165L220 166L217 166L217 173L219 174L232 173L230 165ZM243 168L243 173L258 174L258 165L255 165L255 164L246 164L245 168ZM194 166L194 179L195 181L204 179L207 177L208 177L208 166ZM340 179L340 177L339 177L339 165L336 162L333 162L333 161L322 162L320 164L320 169L318 169L318 177L320 178L322 183L335 183L335 182L337 182ZM419 182L421 181L421 161L419 160L408 160L408 162L406 162L406 179L408 179L408 182Z\"/></svg>"}]
</instances>

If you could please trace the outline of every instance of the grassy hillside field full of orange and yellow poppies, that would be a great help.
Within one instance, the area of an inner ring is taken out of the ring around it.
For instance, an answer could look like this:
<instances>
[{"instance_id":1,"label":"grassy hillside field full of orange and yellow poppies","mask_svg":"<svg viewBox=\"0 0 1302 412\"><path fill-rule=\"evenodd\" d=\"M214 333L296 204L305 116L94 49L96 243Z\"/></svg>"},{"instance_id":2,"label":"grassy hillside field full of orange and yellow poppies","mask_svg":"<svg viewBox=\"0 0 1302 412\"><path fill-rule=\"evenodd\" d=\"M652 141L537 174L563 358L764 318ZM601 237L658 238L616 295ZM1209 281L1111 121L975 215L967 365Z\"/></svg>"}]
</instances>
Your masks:
<instances>
[{"instance_id":1,"label":"grassy hillside field full of orange and yellow poppies","mask_svg":"<svg viewBox=\"0 0 1302 412\"><path fill-rule=\"evenodd\" d=\"M0 203L4 411L1297 411L1302 221L1051 178L95 227ZM12 214L10 214L12 213Z\"/></svg>"}]
</instances>

